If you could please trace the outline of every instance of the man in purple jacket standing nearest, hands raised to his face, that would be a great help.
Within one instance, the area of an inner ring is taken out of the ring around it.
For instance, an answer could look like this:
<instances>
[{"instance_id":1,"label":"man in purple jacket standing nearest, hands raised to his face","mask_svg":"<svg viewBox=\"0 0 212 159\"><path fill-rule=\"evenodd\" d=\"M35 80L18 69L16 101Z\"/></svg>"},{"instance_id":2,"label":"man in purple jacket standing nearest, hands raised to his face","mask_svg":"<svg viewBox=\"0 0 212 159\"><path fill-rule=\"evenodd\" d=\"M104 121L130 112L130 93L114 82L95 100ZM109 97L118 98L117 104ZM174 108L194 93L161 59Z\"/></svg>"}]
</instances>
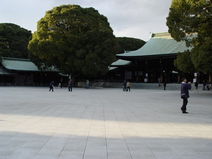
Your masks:
<instances>
[{"instance_id":1,"label":"man in purple jacket standing nearest, hands raised to his face","mask_svg":"<svg viewBox=\"0 0 212 159\"><path fill-rule=\"evenodd\" d=\"M181 84L181 98L183 99L183 105L181 107L181 110L182 110L182 113L185 113L185 114L188 114L188 112L186 112L186 105L188 104L189 89L191 89L191 82L187 83L187 79L183 78L182 84Z\"/></svg>"}]
</instances>

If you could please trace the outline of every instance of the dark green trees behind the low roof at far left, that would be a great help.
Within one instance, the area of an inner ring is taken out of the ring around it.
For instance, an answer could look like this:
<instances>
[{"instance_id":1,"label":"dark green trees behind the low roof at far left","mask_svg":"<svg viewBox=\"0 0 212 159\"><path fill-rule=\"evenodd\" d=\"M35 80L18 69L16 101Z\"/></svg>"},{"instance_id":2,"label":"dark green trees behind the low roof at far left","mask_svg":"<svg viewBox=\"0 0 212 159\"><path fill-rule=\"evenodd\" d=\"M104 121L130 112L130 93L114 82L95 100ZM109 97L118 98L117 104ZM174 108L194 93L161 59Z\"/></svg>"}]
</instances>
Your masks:
<instances>
[{"instance_id":1,"label":"dark green trees behind the low roof at far left","mask_svg":"<svg viewBox=\"0 0 212 159\"><path fill-rule=\"evenodd\" d=\"M12 23L0 24L0 56L28 58L31 31Z\"/></svg>"}]
</instances>

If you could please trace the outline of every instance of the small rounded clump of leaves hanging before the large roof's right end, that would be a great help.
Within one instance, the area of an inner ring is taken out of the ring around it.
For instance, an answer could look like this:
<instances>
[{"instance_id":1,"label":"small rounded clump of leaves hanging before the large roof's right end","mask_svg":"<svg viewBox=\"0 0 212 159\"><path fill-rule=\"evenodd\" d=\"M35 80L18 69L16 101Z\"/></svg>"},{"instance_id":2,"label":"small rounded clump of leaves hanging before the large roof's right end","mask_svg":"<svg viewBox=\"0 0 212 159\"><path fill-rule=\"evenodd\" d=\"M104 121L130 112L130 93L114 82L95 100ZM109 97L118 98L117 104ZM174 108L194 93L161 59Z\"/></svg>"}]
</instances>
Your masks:
<instances>
[{"instance_id":1,"label":"small rounded clump of leaves hanging before the large roof's right end","mask_svg":"<svg viewBox=\"0 0 212 159\"><path fill-rule=\"evenodd\" d=\"M174 65L184 73L189 73L195 70L189 50L184 51L183 53L178 53L177 58L174 60Z\"/></svg>"}]
</instances>

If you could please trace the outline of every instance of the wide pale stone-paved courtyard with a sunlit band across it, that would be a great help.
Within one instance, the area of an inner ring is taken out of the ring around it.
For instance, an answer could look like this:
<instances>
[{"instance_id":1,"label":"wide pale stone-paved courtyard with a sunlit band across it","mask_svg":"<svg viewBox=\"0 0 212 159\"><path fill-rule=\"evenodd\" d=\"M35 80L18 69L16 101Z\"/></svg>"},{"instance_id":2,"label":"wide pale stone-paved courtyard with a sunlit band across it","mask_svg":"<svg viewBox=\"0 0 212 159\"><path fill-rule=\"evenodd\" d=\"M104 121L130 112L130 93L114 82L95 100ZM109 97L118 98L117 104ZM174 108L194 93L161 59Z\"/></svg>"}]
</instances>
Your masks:
<instances>
[{"instance_id":1,"label":"wide pale stone-paved courtyard with a sunlit band across it","mask_svg":"<svg viewBox=\"0 0 212 159\"><path fill-rule=\"evenodd\" d=\"M0 87L0 159L211 159L212 91Z\"/></svg>"}]
</instances>

